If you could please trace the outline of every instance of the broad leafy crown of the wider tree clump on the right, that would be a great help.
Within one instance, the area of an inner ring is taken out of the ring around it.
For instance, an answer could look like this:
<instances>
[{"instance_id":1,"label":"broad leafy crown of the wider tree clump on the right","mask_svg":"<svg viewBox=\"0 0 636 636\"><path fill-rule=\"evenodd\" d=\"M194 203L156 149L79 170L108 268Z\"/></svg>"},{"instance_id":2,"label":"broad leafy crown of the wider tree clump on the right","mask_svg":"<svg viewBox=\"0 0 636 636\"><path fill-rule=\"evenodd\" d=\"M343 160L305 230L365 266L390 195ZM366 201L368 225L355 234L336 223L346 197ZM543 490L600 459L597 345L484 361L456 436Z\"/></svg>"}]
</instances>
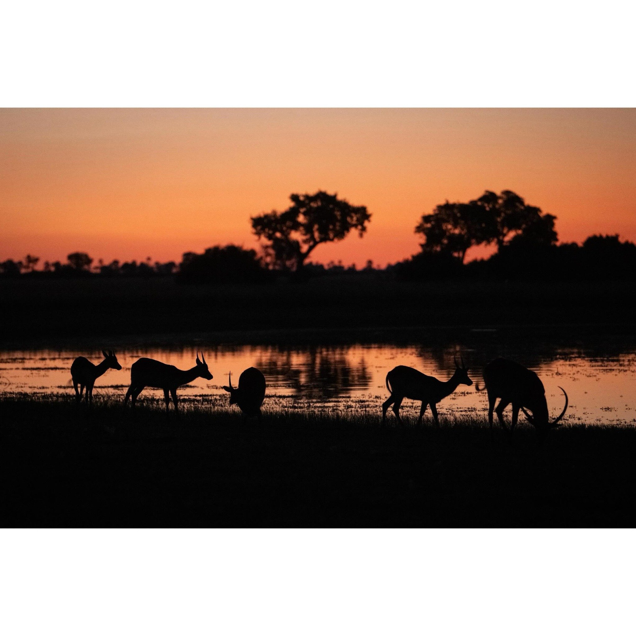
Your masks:
<instances>
[{"instance_id":1,"label":"broad leafy crown of the wider tree clump on the right","mask_svg":"<svg viewBox=\"0 0 636 636\"><path fill-rule=\"evenodd\" d=\"M513 242L553 245L555 219L511 190L499 195L487 190L468 203L438 205L422 216L415 232L424 236L424 252L452 254L463 262L473 245L496 244L498 251Z\"/></svg>"}]
</instances>

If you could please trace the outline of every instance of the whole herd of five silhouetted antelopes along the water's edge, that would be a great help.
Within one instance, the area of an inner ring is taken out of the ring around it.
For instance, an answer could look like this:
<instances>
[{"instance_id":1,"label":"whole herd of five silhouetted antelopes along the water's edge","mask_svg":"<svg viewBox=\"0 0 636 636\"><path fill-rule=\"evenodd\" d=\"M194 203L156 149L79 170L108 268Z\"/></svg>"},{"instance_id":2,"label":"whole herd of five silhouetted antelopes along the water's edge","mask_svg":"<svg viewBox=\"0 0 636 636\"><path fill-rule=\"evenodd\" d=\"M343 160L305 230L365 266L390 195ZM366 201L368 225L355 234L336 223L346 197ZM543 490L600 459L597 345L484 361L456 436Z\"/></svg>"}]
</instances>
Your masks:
<instances>
[{"instance_id":1,"label":"whole herd of five silhouetted antelopes along the water's edge","mask_svg":"<svg viewBox=\"0 0 636 636\"><path fill-rule=\"evenodd\" d=\"M99 364L93 364L85 357L78 357L71 365L71 377L73 378L73 387L75 389L76 399L78 403L81 401L82 393L86 388L85 400L88 404L93 401L93 385L95 380L106 373L108 369L121 370L121 364L117 361L117 356L112 350L102 350L104 359ZM450 396L460 384L471 386L473 380L468 377L469 369L464 364L464 359L460 357L461 364L455 359L455 371L446 382L441 382L437 378L425 375L417 369L410 366L396 366L387 373L386 385L391 393L389 399L382 404L382 424L387 419L387 410L393 404L393 412L399 424L403 425L399 417L399 408L404 397L422 402L420 415L417 423L422 423L422 418L427 406L431 406L431 413L435 424L439 426L437 404L445 397ZM207 368L205 356L201 354L195 366L191 369L183 371L177 369L172 364L165 364L158 360L142 357L139 358L130 367L130 387L124 398L124 406L131 398L131 404L134 408L137 402L137 396L146 388L163 389L163 397L165 399L166 412L169 411L170 399L174 403L174 408L178 413L177 406L177 389L184 384L188 384L195 378L205 378L212 380L212 373ZM488 363L483 368L483 380L488 393L488 424L492 431L493 413L497 413L502 427L509 432L515 429L519 417L519 411L534 425L540 436L551 428L560 426L559 422L565 415L567 410L567 393L562 387L559 387L565 395L565 406L561 414L552 422L548 415L548 403L546 402L545 389L543 382L539 380L534 371L522 366L522 364L497 358ZM79 385L79 389L78 389ZM475 385L477 391L483 391L478 385ZM265 376L254 367L250 367L241 373L239 377L239 385L235 388L232 386L232 374L230 374L229 386L223 389L230 394L230 404L237 404L243 413L243 417L258 417L261 419L261 405L265 399ZM499 404L495 408L495 401L499 398ZM512 406L512 418L510 428L504 421L504 409L509 405Z\"/></svg>"}]
</instances>

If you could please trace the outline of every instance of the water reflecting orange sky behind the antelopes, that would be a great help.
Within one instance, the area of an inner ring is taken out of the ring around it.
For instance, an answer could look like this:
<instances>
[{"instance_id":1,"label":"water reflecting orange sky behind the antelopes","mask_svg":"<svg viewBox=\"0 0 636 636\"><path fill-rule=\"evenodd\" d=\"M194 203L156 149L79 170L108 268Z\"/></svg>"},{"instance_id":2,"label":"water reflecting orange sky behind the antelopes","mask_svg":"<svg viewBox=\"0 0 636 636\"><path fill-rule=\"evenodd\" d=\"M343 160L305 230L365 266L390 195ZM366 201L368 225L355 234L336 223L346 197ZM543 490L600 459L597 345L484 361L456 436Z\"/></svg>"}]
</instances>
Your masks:
<instances>
[{"instance_id":1,"label":"water reflecting orange sky behind the antelopes","mask_svg":"<svg viewBox=\"0 0 636 636\"><path fill-rule=\"evenodd\" d=\"M201 345L200 345L201 346ZM214 379L197 378L180 389L184 398L209 396L215 401L226 397L221 386L228 373L234 378L249 366L265 374L267 397L264 408L364 410L380 413L388 396L385 377L397 364L413 366L424 373L447 380L453 371L453 356L459 347L421 347L417 345L356 344L338 346L202 347ZM496 347L462 349L471 377L481 383L481 367L499 355L512 357L537 371L546 387L548 406L556 415L563 406L562 386L570 397L566 422L586 424L634 424L636 408L632 394L636 386L636 351L604 350L601 345L583 349L555 348L500 351ZM34 350L0 352L0 392L73 392L71 363L86 356L97 363L99 351ZM109 370L97 379L95 396L108 394L123 399L130 380L130 365L141 357L153 357L186 369L194 365L196 350L155 349L118 350L121 371ZM150 391L147 389L147 391ZM145 393L145 392L144 392ZM160 392L156 392L157 395ZM142 394L141 397L143 397ZM141 398L140 398L141 399ZM225 403L225 401L223 401ZM417 417L419 405L405 400L405 417ZM485 416L485 392L460 387L438 405L440 417L450 413ZM431 417L430 413L427 417Z\"/></svg>"}]
</instances>

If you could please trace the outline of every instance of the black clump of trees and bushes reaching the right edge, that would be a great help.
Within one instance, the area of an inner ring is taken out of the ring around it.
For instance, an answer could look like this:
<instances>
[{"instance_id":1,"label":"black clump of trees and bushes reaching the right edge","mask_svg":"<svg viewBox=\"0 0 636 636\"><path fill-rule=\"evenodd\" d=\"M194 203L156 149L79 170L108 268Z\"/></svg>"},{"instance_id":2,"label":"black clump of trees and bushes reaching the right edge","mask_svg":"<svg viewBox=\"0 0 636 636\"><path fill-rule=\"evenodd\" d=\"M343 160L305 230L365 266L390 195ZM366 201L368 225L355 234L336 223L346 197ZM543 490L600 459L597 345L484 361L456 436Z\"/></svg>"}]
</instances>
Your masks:
<instances>
[{"instance_id":1,"label":"black clump of trees and bushes reaching the right edge","mask_svg":"<svg viewBox=\"0 0 636 636\"><path fill-rule=\"evenodd\" d=\"M495 279L633 279L636 245L618 235L593 235L557 245L556 217L528 205L511 190L485 191L467 203L438 205L415 233L421 251L390 266L403 280L480 277ZM490 258L465 263L476 245L494 245Z\"/></svg>"}]
</instances>

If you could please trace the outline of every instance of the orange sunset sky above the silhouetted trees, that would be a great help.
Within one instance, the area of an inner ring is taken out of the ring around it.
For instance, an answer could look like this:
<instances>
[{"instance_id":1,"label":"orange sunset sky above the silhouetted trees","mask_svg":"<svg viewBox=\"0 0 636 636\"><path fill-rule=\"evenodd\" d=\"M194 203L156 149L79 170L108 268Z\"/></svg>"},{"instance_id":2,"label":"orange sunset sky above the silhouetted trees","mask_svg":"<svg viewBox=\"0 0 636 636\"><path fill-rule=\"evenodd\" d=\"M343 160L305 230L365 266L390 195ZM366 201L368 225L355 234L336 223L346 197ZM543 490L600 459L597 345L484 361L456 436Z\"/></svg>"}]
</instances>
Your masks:
<instances>
[{"instance_id":1,"label":"orange sunset sky above the silhouetted trees","mask_svg":"<svg viewBox=\"0 0 636 636\"><path fill-rule=\"evenodd\" d=\"M0 260L179 261L258 246L292 192L366 205L363 239L314 261L418 251L436 204L514 190L560 240L636 240L636 109L0 109Z\"/></svg>"}]
</instances>

